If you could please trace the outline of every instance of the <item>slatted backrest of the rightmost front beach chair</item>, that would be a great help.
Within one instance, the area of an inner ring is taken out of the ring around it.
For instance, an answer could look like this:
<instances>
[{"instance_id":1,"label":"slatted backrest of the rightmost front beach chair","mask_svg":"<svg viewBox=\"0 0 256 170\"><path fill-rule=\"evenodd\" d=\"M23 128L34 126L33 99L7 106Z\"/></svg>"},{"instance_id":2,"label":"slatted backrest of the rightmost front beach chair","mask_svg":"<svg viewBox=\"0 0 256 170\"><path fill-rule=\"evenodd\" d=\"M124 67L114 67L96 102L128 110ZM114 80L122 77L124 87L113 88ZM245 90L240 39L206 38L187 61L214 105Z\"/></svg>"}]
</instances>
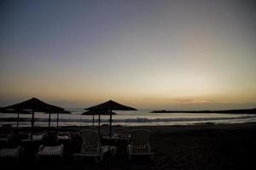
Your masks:
<instances>
[{"instance_id":1,"label":"slatted backrest of the rightmost front beach chair","mask_svg":"<svg viewBox=\"0 0 256 170\"><path fill-rule=\"evenodd\" d=\"M147 129L136 129L131 131L130 144L134 150L147 150L149 148L150 131Z\"/></svg>"}]
</instances>

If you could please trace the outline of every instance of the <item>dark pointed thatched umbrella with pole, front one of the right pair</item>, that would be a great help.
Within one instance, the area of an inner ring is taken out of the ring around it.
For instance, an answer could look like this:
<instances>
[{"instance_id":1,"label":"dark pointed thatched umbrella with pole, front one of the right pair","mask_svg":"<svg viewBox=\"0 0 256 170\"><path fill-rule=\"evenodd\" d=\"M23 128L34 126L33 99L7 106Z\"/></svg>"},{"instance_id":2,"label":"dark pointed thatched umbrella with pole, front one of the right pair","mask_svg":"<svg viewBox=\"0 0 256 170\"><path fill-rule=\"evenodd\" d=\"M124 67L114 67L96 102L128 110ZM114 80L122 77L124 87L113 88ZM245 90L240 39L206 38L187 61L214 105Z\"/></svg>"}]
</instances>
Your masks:
<instances>
[{"instance_id":1,"label":"dark pointed thatched umbrella with pole, front one of the right pair","mask_svg":"<svg viewBox=\"0 0 256 170\"><path fill-rule=\"evenodd\" d=\"M132 107L121 105L117 102L114 102L113 100L109 100L105 103L102 103L100 105L95 105L92 107L89 107L85 110L89 111L109 111L110 119L109 119L109 137L112 135L112 111L137 111L137 109L134 109Z\"/></svg>"}]
</instances>

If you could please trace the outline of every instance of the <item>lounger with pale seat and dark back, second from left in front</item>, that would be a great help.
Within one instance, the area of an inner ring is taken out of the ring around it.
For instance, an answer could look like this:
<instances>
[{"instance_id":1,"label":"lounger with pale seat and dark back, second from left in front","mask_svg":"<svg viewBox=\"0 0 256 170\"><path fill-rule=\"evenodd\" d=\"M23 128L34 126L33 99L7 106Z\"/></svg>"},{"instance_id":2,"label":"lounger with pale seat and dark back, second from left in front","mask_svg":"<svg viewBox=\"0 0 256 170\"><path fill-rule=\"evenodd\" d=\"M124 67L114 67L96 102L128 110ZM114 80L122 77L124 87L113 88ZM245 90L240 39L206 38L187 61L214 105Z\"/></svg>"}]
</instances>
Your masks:
<instances>
[{"instance_id":1,"label":"lounger with pale seat and dark back, second from left in front","mask_svg":"<svg viewBox=\"0 0 256 170\"><path fill-rule=\"evenodd\" d=\"M58 144L58 136L55 131L44 133L44 144L41 144L38 149L37 159L45 156L55 156L63 158L64 145Z\"/></svg>"}]
</instances>

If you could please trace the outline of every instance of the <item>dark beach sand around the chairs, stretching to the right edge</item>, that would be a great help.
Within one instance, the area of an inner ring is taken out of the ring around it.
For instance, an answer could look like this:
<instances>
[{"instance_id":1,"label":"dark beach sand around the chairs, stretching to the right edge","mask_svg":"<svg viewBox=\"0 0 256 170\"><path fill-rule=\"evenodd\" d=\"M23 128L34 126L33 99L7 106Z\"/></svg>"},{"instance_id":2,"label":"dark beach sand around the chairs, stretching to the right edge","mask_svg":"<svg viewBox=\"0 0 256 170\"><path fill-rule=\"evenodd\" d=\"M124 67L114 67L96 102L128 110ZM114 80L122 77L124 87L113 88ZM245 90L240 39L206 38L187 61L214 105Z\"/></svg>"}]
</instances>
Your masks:
<instances>
[{"instance_id":1,"label":"dark beach sand around the chairs, stretching to the right edge","mask_svg":"<svg viewBox=\"0 0 256 170\"><path fill-rule=\"evenodd\" d=\"M61 131L79 132L84 127L61 127ZM151 131L150 144L154 160L136 157L127 160L125 144L118 145L116 156L106 156L103 162L93 159L73 161L73 152L81 142L74 138L66 144L63 161L49 159L34 161L32 146L18 164L1 162L1 169L256 169L256 123L229 125L126 127L147 128ZM44 130L44 129L38 129ZM102 141L102 143L107 143ZM34 150L37 145L34 145ZM8 166L8 167L4 167Z\"/></svg>"}]
</instances>

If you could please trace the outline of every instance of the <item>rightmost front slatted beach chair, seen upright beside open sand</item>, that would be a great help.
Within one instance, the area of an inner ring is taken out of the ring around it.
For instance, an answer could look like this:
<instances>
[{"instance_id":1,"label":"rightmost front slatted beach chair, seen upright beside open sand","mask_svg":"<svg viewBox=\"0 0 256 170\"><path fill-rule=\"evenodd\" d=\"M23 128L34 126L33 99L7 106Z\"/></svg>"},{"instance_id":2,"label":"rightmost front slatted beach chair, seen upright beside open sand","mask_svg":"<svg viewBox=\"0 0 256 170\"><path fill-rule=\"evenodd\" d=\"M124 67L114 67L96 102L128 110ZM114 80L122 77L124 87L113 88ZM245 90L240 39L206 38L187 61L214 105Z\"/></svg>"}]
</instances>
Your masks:
<instances>
[{"instance_id":1,"label":"rightmost front slatted beach chair, seen upright beside open sand","mask_svg":"<svg viewBox=\"0 0 256 170\"><path fill-rule=\"evenodd\" d=\"M131 131L130 144L128 145L128 156L150 156L153 158L154 153L151 152L149 144L150 131L147 129L136 129Z\"/></svg>"}]
</instances>

